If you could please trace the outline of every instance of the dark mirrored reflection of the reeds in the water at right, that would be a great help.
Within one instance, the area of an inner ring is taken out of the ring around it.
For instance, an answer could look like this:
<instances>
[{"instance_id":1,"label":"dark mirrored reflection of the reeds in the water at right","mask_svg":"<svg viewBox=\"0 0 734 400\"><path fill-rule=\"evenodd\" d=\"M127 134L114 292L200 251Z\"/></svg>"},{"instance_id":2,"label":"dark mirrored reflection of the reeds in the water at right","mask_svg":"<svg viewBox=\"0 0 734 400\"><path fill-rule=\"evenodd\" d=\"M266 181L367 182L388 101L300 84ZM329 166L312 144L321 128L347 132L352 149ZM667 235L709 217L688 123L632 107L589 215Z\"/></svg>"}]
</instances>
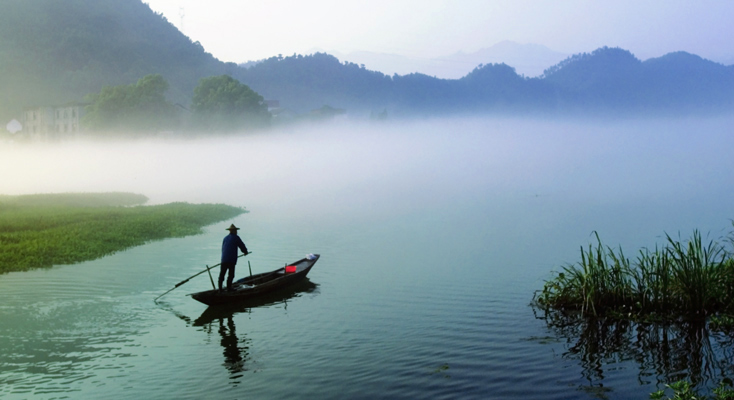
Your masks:
<instances>
[{"instance_id":1,"label":"dark mirrored reflection of the reeds in the water at right","mask_svg":"<svg viewBox=\"0 0 734 400\"><path fill-rule=\"evenodd\" d=\"M603 385L605 369L638 364L640 384L688 380L716 387L734 373L734 338L711 332L705 321L668 324L584 319L562 313L536 315L565 342L563 358L578 361L591 386Z\"/></svg>"}]
</instances>

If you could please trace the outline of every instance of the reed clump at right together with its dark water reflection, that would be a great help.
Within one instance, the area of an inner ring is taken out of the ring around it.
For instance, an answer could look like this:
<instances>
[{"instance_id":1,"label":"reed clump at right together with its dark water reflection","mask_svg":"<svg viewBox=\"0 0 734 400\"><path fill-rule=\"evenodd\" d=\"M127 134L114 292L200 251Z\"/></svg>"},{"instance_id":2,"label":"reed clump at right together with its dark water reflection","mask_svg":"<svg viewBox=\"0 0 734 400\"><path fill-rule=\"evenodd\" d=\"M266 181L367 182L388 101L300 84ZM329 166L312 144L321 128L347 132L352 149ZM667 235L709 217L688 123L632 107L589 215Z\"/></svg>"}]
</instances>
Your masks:
<instances>
[{"instance_id":1,"label":"reed clump at right together with its dark water reflection","mask_svg":"<svg viewBox=\"0 0 734 400\"><path fill-rule=\"evenodd\" d=\"M675 381L666 385L670 399L707 398L696 390L734 399L729 380L706 388L731 371L731 356L720 350L731 348L734 337L731 251L694 231L688 240L666 235L664 245L629 259L595 237L594 245L581 247L578 263L561 267L534 296L539 318L571 343L565 354L582 361L590 380L603 379L602 366L621 357L638 360L641 376ZM734 235L728 241L734 244ZM693 384L678 381L681 371ZM666 390L651 398L667 399Z\"/></svg>"}]
</instances>

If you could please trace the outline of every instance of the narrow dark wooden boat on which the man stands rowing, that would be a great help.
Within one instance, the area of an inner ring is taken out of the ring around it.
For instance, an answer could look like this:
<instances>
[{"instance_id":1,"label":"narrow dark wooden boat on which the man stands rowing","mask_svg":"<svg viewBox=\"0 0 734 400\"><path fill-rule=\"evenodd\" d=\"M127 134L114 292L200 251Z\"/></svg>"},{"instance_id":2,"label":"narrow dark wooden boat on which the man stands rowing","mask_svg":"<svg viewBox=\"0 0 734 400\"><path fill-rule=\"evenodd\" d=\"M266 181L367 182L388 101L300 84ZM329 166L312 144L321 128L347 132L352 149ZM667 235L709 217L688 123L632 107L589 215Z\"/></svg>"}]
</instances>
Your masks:
<instances>
[{"instance_id":1,"label":"narrow dark wooden boat on which the man stands rowing","mask_svg":"<svg viewBox=\"0 0 734 400\"><path fill-rule=\"evenodd\" d=\"M205 290L203 292L191 293L193 297L206 305L214 306L219 304L237 303L267 293L272 293L281 289L288 288L302 281L320 255L309 254L306 258L302 258L285 267L276 269L275 271L263 272L242 278L232 284L232 290ZM293 271L293 272L291 272Z\"/></svg>"}]
</instances>

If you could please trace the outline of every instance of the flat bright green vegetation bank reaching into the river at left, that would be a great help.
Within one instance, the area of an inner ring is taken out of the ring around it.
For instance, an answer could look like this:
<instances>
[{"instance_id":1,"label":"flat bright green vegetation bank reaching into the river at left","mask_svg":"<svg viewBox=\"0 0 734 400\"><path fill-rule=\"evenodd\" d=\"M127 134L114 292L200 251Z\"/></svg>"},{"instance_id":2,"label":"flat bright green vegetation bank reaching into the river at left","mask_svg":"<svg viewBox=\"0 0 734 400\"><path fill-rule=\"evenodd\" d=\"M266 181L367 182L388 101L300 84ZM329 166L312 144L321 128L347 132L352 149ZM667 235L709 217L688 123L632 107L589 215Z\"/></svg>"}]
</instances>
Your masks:
<instances>
[{"instance_id":1,"label":"flat bright green vegetation bank reaching into the river at left","mask_svg":"<svg viewBox=\"0 0 734 400\"><path fill-rule=\"evenodd\" d=\"M246 212L225 204L142 206L131 193L0 196L0 273L93 260L201 233Z\"/></svg>"}]
</instances>

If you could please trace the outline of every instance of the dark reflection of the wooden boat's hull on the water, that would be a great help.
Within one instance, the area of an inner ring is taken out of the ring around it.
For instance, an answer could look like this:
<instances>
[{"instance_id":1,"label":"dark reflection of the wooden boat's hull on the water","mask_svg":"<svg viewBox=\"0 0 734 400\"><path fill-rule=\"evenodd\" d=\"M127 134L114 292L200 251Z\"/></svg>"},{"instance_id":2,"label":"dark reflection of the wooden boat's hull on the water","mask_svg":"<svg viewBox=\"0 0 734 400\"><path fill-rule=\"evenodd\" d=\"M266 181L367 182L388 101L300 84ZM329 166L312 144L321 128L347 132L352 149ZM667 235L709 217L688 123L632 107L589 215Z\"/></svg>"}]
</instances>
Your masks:
<instances>
[{"instance_id":1,"label":"dark reflection of the wooden boat's hull on the water","mask_svg":"<svg viewBox=\"0 0 734 400\"><path fill-rule=\"evenodd\" d=\"M268 307L274 304L283 303L287 308L288 300L292 300L304 294L314 293L317 288L317 284L311 282L308 278L305 278L302 282L294 286L279 290L277 292L267 293L257 298L243 300L235 304L210 306L206 310L204 310L199 318L194 320L193 325L208 325L216 319L230 318L238 313L249 312L253 308Z\"/></svg>"}]
</instances>

